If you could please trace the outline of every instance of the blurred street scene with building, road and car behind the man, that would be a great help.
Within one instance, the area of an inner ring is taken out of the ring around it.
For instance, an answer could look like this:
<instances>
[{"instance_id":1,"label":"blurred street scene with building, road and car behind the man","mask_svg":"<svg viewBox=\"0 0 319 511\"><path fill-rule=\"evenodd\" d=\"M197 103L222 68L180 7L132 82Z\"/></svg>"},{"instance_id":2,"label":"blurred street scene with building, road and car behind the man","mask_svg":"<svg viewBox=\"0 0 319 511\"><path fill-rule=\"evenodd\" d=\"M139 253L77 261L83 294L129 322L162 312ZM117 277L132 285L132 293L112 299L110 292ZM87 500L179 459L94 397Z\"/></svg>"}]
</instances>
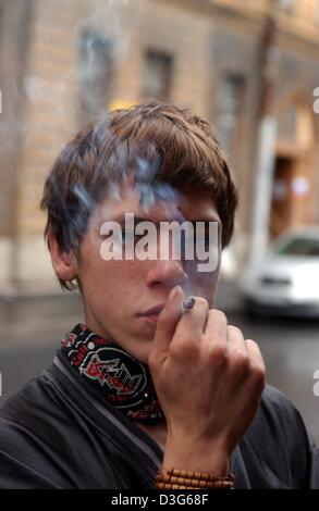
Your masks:
<instances>
[{"instance_id":1,"label":"blurred street scene with building, road and car behind the man","mask_svg":"<svg viewBox=\"0 0 319 511\"><path fill-rule=\"evenodd\" d=\"M42 239L53 159L86 121L158 98L211 121L231 159L241 208L218 307L319 444L318 57L318 0L0 0L3 392L81 319Z\"/></svg>"}]
</instances>

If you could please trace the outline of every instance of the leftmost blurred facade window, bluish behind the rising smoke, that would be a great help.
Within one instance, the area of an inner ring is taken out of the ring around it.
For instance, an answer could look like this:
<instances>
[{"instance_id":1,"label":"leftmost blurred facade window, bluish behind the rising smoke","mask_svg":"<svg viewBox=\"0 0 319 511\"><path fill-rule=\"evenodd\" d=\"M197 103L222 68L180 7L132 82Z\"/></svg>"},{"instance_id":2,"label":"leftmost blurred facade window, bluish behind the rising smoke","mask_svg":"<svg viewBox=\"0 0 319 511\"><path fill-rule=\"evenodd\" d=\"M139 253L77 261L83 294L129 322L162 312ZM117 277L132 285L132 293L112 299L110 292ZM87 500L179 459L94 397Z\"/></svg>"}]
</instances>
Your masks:
<instances>
[{"instance_id":1,"label":"leftmost blurred facade window, bluish behind the rising smoke","mask_svg":"<svg viewBox=\"0 0 319 511\"><path fill-rule=\"evenodd\" d=\"M103 35L85 32L79 42L81 123L108 108L112 85L112 43Z\"/></svg>"}]
</instances>

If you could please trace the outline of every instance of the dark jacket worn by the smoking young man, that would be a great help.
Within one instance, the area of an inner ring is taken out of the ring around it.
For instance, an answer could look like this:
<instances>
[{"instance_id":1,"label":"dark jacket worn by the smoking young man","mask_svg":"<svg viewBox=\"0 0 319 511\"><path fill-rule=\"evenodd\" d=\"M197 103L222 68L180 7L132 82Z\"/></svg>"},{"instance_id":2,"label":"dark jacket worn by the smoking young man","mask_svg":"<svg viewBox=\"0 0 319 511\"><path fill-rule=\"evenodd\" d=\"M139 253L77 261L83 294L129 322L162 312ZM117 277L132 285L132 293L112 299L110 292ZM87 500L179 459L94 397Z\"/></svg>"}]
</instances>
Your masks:
<instances>
[{"instance_id":1,"label":"dark jacket worn by the smoking young man","mask_svg":"<svg viewBox=\"0 0 319 511\"><path fill-rule=\"evenodd\" d=\"M162 451L61 353L0 400L0 488L152 488ZM235 488L319 488L319 453L299 413L267 387L232 456Z\"/></svg>"}]
</instances>

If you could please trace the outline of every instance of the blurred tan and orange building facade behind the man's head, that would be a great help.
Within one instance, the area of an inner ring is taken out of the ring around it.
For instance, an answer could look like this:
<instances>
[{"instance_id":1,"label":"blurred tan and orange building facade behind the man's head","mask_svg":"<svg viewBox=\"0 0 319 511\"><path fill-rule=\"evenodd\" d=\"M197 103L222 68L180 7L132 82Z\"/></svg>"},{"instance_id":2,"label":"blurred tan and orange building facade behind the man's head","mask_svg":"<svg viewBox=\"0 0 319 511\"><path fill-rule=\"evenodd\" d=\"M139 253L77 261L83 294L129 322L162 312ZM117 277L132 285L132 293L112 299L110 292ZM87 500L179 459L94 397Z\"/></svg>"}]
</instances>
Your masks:
<instances>
[{"instance_id":1,"label":"blurred tan and orange building facade behind the man's head","mask_svg":"<svg viewBox=\"0 0 319 511\"><path fill-rule=\"evenodd\" d=\"M0 295L58 289L45 177L85 121L144 99L216 125L241 192L237 267L254 228L318 224L318 54L317 0L0 0Z\"/></svg>"}]
</instances>

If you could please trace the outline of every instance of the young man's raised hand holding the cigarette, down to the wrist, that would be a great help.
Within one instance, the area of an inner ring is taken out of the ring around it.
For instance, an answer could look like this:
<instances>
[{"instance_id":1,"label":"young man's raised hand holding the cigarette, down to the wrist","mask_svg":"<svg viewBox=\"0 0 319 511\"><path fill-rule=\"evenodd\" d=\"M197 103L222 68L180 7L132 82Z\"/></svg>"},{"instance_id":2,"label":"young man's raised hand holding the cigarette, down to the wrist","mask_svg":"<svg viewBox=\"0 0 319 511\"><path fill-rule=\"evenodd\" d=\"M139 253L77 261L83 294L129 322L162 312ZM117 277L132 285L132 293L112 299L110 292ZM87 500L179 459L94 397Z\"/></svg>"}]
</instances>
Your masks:
<instances>
[{"instance_id":1,"label":"young man's raised hand holding the cigarette, down to the wrist","mask_svg":"<svg viewBox=\"0 0 319 511\"><path fill-rule=\"evenodd\" d=\"M162 310L149 366L168 425L163 466L224 474L251 423L265 387L254 340L196 297L182 314L176 286Z\"/></svg>"}]
</instances>

